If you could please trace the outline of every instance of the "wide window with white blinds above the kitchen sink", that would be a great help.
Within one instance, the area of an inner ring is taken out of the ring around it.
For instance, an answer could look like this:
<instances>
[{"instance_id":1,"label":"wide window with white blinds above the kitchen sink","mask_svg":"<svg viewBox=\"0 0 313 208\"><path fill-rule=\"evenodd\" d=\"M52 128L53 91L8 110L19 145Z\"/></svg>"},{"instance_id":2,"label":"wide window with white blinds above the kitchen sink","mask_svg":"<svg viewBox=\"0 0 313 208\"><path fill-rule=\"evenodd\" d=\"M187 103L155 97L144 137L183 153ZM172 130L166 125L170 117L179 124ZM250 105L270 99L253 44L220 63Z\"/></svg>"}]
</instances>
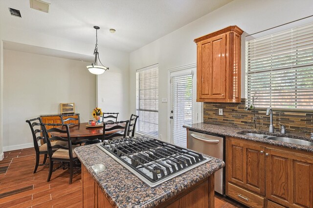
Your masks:
<instances>
[{"instance_id":1,"label":"wide window with white blinds above the kitchen sink","mask_svg":"<svg viewBox=\"0 0 313 208\"><path fill-rule=\"evenodd\" d=\"M313 109L313 23L247 42L247 105Z\"/></svg>"}]
</instances>

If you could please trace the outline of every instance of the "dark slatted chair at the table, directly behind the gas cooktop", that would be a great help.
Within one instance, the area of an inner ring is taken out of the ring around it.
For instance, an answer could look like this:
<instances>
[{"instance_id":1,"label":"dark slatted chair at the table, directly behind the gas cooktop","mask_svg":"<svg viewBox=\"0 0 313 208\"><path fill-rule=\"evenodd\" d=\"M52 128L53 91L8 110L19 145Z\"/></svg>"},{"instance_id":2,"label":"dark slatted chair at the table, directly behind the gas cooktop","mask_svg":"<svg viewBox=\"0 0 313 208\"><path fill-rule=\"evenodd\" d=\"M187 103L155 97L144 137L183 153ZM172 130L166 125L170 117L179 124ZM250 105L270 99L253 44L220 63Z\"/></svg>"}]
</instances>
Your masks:
<instances>
[{"instance_id":1,"label":"dark slatted chair at the table, directly behind the gas cooktop","mask_svg":"<svg viewBox=\"0 0 313 208\"><path fill-rule=\"evenodd\" d=\"M104 122L103 123L103 134L102 134L102 142L106 139L111 139L113 137L126 137L127 134L127 127L128 127L127 121L116 121L116 122ZM124 124L125 125L121 125ZM116 124L116 125L112 125Z\"/></svg>"}]
</instances>

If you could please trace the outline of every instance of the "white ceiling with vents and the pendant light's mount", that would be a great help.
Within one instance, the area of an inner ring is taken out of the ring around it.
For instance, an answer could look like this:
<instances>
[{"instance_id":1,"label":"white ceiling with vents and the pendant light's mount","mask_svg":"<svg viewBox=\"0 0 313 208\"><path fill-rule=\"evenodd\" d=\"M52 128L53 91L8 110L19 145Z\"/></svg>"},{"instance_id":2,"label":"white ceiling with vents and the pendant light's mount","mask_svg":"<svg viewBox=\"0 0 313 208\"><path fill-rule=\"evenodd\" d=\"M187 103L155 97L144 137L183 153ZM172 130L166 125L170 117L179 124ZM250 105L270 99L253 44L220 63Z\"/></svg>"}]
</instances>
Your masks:
<instances>
[{"instance_id":1,"label":"white ceiling with vents and the pendant light's mount","mask_svg":"<svg viewBox=\"0 0 313 208\"><path fill-rule=\"evenodd\" d=\"M3 22L22 30L132 52L199 19L232 0L45 0L49 13L30 8L29 0L0 0ZM11 16L8 7L21 11ZM110 28L116 29L114 34Z\"/></svg>"}]
</instances>

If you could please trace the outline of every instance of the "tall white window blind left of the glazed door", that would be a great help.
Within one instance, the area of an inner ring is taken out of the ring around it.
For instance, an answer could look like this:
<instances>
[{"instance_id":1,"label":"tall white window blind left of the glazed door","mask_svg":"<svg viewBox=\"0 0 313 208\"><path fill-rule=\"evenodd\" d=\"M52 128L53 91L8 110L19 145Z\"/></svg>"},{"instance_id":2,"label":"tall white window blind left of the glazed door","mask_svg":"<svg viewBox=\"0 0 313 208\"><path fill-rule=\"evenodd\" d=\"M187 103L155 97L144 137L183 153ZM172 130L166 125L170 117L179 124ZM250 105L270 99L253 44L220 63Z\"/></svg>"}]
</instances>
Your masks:
<instances>
[{"instance_id":1,"label":"tall white window blind left of the glazed door","mask_svg":"<svg viewBox=\"0 0 313 208\"><path fill-rule=\"evenodd\" d=\"M136 131L158 137L158 68L136 72Z\"/></svg>"}]
</instances>

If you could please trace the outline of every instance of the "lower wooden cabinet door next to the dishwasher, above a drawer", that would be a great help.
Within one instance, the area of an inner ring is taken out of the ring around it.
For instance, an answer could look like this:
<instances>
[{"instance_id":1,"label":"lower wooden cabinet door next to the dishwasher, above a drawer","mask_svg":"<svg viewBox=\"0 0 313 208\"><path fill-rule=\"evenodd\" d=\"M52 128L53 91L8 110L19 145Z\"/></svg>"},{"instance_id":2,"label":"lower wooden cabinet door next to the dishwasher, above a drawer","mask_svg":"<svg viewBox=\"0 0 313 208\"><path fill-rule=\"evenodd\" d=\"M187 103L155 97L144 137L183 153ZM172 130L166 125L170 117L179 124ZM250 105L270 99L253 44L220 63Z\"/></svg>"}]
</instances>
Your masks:
<instances>
[{"instance_id":1,"label":"lower wooden cabinet door next to the dishwasher, above a drawer","mask_svg":"<svg viewBox=\"0 0 313 208\"><path fill-rule=\"evenodd\" d=\"M229 140L227 180L265 195L265 147Z\"/></svg>"}]
</instances>

